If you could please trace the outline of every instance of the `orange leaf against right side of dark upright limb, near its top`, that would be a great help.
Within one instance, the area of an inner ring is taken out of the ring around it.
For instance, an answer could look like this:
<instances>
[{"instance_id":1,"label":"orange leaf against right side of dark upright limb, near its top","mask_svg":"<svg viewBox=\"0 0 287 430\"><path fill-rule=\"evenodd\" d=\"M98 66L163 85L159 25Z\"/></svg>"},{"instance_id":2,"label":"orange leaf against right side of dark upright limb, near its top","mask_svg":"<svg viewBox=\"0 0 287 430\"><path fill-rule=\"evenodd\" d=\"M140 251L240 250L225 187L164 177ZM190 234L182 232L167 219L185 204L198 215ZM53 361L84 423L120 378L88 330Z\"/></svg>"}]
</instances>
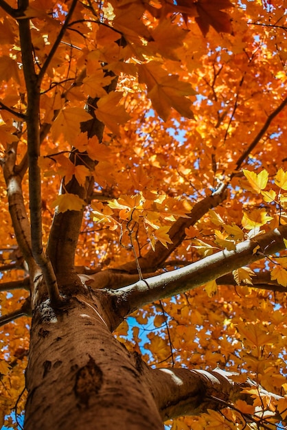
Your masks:
<instances>
[{"instance_id":1,"label":"orange leaf against right side of dark upright limb, near its top","mask_svg":"<svg viewBox=\"0 0 287 430\"><path fill-rule=\"evenodd\" d=\"M124 124L130 118L130 115L124 110L124 106L117 106L121 98L122 93L111 92L100 98L95 111L97 119L102 121L115 134L119 133L119 124Z\"/></svg>"}]
</instances>

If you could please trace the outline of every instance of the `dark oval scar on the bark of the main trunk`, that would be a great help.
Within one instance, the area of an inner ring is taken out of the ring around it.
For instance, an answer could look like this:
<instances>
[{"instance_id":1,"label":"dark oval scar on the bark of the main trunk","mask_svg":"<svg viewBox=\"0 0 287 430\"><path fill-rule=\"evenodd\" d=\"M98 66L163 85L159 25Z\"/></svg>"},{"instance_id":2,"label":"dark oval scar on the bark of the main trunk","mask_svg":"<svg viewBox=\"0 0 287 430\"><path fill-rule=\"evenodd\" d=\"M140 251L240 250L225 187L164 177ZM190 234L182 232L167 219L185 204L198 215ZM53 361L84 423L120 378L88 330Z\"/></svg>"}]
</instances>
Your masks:
<instances>
[{"instance_id":1,"label":"dark oval scar on the bark of the main trunk","mask_svg":"<svg viewBox=\"0 0 287 430\"><path fill-rule=\"evenodd\" d=\"M89 355L89 361L76 373L76 383L73 388L78 398L78 407L89 407L89 399L100 391L103 383L103 373L95 360Z\"/></svg>"}]
</instances>

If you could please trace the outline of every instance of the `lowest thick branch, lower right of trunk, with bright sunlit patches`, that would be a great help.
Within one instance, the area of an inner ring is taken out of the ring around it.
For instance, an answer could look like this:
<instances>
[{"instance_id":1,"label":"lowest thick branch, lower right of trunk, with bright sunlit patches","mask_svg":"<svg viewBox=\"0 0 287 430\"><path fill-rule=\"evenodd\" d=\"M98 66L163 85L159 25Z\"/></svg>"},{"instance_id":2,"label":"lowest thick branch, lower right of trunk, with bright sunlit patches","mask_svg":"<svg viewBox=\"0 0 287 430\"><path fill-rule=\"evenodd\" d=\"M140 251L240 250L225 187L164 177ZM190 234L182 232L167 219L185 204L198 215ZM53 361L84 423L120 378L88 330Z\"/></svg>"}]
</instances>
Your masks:
<instances>
[{"instance_id":1,"label":"lowest thick branch, lower right of trunk, with bright sunlit patches","mask_svg":"<svg viewBox=\"0 0 287 430\"><path fill-rule=\"evenodd\" d=\"M255 382L247 379L245 383L234 383L232 372L216 369L151 369L146 378L150 389L157 400L163 420L178 416L199 415L209 409L220 409L220 404L232 405L235 400L253 403L253 398L240 393L244 387L257 387L260 394L268 394L269 398L279 399L280 396L266 392ZM213 400L214 399L214 400ZM249 416L252 420L252 416Z\"/></svg>"}]
</instances>

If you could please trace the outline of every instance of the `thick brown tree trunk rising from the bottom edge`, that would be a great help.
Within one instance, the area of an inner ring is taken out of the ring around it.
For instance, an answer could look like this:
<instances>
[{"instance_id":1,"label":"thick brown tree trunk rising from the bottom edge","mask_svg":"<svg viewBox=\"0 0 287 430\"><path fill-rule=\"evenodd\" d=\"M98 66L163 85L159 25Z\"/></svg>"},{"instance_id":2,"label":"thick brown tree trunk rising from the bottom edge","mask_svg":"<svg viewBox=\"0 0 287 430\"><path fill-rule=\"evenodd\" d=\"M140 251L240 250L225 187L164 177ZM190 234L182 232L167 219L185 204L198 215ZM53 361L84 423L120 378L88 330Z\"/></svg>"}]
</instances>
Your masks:
<instances>
[{"instance_id":1,"label":"thick brown tree trunk rising from the bottom edge","mask_svg":"<svg viewBox=\"0 0 287 430\"><path fill-rule=\"evenodd\" d=\"M163 429L141 360L111 335L100 309L81 296L57 315L49 302L34 311L25 430Z\"/></svg>"}]
</instances>

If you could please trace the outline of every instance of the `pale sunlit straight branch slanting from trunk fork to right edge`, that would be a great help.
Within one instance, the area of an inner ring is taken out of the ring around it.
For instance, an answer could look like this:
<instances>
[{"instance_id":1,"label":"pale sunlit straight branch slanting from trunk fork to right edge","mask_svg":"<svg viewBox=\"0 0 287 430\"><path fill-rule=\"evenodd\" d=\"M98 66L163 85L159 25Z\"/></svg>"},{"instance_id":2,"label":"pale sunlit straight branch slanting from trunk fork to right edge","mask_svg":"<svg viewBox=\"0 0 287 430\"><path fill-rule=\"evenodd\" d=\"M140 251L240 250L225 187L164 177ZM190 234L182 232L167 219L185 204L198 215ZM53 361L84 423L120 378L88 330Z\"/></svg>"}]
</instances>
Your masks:
<instances>
[{"instance_id":1,"label":"pale sunlit straight branch slanting from trunk fork to right edge","mask_svg":"<svg viewBox=\"0 0 287 430\"><path fill-rule=\"evenodd\" d=\"M287 225L255 236L252 240L246 240L237 245L234 251L220 251L181 269L120 288L117 293L122 300L119 300L118 306L123 307L121 313L128 314L155 300L189 291L286 249L284 239L287 239Z\"/></svg>"}]
</instances>

